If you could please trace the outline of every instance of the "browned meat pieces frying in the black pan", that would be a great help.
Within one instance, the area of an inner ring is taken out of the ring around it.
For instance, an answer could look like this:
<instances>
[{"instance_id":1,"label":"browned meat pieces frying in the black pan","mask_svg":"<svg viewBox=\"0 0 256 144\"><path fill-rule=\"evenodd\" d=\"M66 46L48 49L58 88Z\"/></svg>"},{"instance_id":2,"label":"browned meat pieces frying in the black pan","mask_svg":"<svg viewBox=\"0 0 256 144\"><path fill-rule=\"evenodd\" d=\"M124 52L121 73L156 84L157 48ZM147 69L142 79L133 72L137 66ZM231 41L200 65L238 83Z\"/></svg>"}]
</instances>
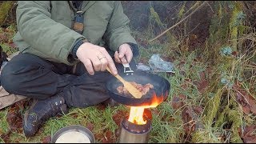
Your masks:
<instances>
[{"instance_id":1,"label":"browned meat pieces frying in the black pan","mask_svg":"<svg viewBox=\"0 0 256 144\"><path fill-rule=\"evenodd\" d=\"M146 85L142 85L142 84L139 84L139 83L136 83L136 82L130 82L130 84L132 84L134 87L136 87L136 89L138 89L140 92L142 92L142 94L146 94L150 91L150 89L153 89L154 86L151 85L150 83L147 83ZM124 86L118 86L117 88L118 90L118 93L119 94L130 94L128 90L126 90L126 88Z\"/></svg>"}]
</instances>

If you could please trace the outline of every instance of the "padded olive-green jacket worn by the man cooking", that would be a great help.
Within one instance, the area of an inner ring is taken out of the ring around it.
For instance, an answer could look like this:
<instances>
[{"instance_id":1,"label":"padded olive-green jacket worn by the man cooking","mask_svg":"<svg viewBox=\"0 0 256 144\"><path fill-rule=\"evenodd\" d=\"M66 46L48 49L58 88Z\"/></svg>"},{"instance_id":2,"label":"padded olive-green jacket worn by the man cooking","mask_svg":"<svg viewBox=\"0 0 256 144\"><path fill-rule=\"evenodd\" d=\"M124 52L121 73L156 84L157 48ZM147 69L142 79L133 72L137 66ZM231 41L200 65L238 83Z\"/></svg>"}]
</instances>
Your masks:
<instances>
[{"instance_id":1,"label":"padded olive-green jacket worn by the man cooking","mask_svg":"<svg viewBox=\"0 0 256 144\"><path fill-rule=\"evenodd\" d=\"M84 1L83 34L72 30L74 11L68 1L18 1L18 33L14 43L22 53L38 55L53 62L73 65L68 56L79 39L86 38L108 51L116 51L122 43L134 43L123 14L121 2Z\"/></svg>"}]
</instances>

